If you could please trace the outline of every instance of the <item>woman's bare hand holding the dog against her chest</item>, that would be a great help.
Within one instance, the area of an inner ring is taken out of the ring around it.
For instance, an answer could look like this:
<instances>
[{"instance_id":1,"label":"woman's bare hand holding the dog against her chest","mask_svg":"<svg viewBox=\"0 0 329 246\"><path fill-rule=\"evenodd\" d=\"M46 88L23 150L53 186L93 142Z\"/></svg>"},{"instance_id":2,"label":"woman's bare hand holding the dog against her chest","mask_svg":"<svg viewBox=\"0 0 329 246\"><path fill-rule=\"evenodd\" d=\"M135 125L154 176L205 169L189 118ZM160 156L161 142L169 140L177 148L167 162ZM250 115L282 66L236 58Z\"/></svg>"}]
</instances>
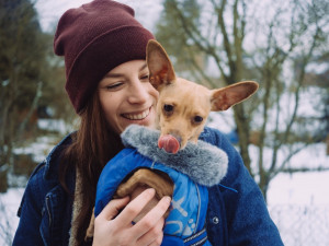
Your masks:
<instances>
[{"instance_id":1,"label":"woman's bare hand holding the dog against her chest","mask_svg":"<svg viewBox=\"0 0 329 246\"><path fill-rule=\"evenodd\" d=\"M136 224L132 223L155 194L155 189L150 188L131 202L128 197L109 202L94 221L93 246L160 245L163 237L163 214L171 200L169 197L163 197ZM117 215L121 210L122 212Z\"/></svg>"}]
</instances>

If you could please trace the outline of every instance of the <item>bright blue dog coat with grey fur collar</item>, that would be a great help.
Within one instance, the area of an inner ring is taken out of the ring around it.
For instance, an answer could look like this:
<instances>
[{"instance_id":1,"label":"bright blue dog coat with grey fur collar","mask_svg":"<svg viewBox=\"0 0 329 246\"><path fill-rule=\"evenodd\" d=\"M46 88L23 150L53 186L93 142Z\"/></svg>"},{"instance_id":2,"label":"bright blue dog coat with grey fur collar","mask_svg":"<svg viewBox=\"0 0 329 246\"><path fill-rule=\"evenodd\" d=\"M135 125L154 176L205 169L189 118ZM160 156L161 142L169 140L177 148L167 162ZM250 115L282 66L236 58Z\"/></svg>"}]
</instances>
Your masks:
<instances>
[{"instance_id":1,"label":"bright blue dog coat with grey fur collar","mask_svg":"<svg viewBox=\"0 0 329 246\"><path fill-rule=\"evenodd\" d=\"M123 179L138 168L164 172L174 184L171 210L166 219L161 245L209 245L205 218L207 188L225 176L228 159L224 151L203 141L188 143L177 154L157 147L159 131L129 126L122 139L127 147L103 168L98 183L95 216L103 210Z\"/></svg>"}]
</instances>

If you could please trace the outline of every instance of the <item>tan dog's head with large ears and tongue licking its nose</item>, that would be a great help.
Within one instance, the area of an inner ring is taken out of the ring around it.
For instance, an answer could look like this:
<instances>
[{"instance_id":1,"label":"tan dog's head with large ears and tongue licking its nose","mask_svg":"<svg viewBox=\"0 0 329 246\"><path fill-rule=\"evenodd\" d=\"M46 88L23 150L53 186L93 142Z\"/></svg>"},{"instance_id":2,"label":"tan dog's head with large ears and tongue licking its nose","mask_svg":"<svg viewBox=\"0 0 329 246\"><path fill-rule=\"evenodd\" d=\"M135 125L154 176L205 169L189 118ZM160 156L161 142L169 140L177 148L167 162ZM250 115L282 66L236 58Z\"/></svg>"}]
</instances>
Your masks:
<instances>
[{"instance_id":1,"label":"tan dog's head with large ears and tongue licking its nose","mask_svg":"<svg viewBox=\"0 0 329 246\"><path fill-rule=\"evenodd\" d=\"M203 85L177 78L171 61L156 40L147 46L150 83L159 91L159 148L177 153L188 141L197 142L209 112L226 110L250 97L258 83L246 81L223 89L208 90Z\"/></svg>"}]
</instances>

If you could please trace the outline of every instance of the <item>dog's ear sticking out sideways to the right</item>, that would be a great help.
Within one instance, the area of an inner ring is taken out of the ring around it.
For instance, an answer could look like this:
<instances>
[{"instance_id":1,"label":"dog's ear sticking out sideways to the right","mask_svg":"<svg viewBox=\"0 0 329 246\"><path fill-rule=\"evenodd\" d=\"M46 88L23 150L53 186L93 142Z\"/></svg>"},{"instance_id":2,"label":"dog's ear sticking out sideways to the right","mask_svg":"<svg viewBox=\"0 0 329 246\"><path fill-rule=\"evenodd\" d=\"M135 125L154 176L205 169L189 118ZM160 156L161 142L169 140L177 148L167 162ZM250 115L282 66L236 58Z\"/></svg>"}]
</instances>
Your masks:
<instances>
[{"instance_id":1,"label":"dog's ear sticking out sideways to the right","mask_svg":"<svg viewBox=\"0 0 329 246\"><path fill-rule=\"evenodd\" d=\"M257 90L258 83L253 81L239 82L227 87L212 91L212 112L226 110L229 107L247 99Z\"/></svg>"}]
</instances>

